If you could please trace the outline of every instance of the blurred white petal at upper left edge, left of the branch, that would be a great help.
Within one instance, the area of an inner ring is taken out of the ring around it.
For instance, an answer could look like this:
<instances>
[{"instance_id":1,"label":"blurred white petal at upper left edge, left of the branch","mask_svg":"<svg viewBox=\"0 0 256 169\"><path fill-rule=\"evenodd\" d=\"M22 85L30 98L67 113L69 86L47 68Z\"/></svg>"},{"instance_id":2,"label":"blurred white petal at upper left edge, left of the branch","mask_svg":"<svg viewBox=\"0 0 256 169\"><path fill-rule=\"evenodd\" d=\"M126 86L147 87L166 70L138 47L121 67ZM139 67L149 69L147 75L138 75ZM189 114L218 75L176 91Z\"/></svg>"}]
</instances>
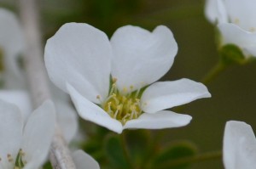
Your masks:
<instances>
[{"instance_id":1,"label":"blurred white petal at upper left edge, left of the branch","mask_svg":"<svg viewBox=\"0 0 256 169\"><path fill-rule=\"evenodd\" d=\"M25 49L21 25L15 14L4 8L0 8L0 23L0 50L3 51L5 69L20 79L17 58Z\"/></svg>"}]
</instances>

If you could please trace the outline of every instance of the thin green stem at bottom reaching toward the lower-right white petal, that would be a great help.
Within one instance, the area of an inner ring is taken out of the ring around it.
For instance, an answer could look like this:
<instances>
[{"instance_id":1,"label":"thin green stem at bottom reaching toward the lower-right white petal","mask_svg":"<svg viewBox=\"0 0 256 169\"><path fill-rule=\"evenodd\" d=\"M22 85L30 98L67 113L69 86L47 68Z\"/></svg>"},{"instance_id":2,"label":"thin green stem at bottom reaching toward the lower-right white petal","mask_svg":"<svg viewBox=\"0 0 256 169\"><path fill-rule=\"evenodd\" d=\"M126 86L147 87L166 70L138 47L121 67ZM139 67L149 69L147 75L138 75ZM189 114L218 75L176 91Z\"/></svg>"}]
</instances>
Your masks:
<instances>
[{"instance_id":1,"label":"thin green stem at bottom reaching toward the lower-right white petal","mask_svg":"<svg viewBox=\"0 0 256 169\"><path fill-rule=\"evenodd\" d=\"M179 165L195 163L200 161L216 160L216 159L220 159L221 157L222 157L222 151L212 151L212 152L207 152L201 155L195 155L193 157L184 157L177 160L169 161L164 163L163 165L160 165L159 167L165 168L165 166L168 166L168 167L179 166Z\"/></svg>"}]
</instances>

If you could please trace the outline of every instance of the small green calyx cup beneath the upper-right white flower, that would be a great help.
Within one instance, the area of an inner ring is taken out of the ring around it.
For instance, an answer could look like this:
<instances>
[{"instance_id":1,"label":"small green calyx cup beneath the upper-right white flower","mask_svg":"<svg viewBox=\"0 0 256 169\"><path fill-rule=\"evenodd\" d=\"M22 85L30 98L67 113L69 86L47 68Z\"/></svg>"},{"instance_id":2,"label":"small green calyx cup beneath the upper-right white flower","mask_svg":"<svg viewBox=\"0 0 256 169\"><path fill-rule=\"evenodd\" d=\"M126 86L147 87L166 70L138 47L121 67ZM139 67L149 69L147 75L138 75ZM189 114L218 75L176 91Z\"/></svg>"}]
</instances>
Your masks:
<instances>
[{"instance_id":1,"label":"small green calyx cup beneath the upper-right white flower","mask_svg":"<svg viewBox=\"0 0 256 169\"><path fill-rule=\"evenodd\" d=\"M234 44L227 44L219 50L220 61L224 65L239 64L247 62L247 58L242 54L241 48Z\"/></svg>"}]
</instances>

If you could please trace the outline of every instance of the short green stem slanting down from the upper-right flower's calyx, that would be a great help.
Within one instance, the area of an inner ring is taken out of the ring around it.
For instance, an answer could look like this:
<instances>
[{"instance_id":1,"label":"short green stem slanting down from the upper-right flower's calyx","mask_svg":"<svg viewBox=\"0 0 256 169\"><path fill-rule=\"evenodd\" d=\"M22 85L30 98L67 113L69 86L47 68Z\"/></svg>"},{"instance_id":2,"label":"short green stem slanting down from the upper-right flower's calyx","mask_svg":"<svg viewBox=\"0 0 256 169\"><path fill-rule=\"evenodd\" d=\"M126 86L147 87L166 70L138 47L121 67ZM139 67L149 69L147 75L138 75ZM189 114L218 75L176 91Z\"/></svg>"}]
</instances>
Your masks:
<instances>
[{"instance_id":1,"label":"short green stem slanting down from the upper-right flower's calyx","mask_svg":"<svg viewBox=\"0 0 256 169\"><path fill-rule=\"evenodd\" d=\"M202 83L208 84L211 82L216 76L218 76L222 71L227 68L227 65L222 64L221 62L218 62L217 65L212 67L212 70L210 70L207 75L201 80Z\"/></svg>"}]
</instances>

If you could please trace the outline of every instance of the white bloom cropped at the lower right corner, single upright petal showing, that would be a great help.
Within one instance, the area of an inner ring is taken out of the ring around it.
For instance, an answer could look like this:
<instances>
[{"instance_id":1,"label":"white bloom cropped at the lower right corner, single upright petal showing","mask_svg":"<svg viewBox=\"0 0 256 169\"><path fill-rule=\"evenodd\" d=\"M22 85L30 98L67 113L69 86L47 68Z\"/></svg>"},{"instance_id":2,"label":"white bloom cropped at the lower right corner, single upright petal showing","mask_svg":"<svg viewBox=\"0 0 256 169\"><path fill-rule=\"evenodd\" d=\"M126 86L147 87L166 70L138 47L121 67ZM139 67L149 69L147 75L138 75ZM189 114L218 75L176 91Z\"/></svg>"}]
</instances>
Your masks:
<instances>
[{"instance_id":1,"label":"white bloom cropped at the lower right corner, single upright petal showing","mask_svg":"<svg viewBox=\"0 0 256 169\"><path fill-rule=\"evenodd\" d=\"M225 169L254 169L256 138L250 125L228 121L224 130L223 158Z\"/></svg>"}]
</instances>

